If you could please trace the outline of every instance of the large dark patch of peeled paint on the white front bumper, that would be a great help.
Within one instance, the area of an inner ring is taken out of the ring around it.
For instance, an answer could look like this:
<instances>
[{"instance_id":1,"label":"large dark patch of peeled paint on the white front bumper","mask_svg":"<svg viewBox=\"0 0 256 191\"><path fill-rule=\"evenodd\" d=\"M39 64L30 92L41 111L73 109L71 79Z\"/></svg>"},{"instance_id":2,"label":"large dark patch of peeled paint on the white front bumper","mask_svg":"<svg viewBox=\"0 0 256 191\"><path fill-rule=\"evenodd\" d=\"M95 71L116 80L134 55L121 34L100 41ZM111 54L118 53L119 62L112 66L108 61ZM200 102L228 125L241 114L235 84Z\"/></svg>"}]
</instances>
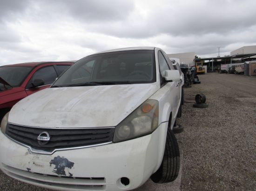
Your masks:
<instances>
[{"instance_id":1,"label":"large dark patch of peeled paint on the white front bumper","mask_svg":"<svg viewBox=\"0 0 256 191\"><path fill-rule=\"evenodd\" d=\"M69 172L69 169L74 166L74 162L69 161L65 157L57 156L50 161L50 166L52 166L52 164L55 165L53 172L56 174L69 177L73 176L73 174Z\"/></svg>"}]
</instances>

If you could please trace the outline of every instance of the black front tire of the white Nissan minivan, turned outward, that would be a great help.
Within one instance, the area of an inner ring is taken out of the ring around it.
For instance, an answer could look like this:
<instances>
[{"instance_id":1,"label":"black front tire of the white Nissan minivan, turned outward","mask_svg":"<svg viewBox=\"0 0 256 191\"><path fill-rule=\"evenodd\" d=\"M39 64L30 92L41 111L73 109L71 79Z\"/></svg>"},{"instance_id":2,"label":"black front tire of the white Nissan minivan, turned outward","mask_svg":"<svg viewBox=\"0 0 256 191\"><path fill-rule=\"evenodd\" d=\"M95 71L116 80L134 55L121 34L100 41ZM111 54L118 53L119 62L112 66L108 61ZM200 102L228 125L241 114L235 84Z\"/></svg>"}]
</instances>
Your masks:
<instances>
[{"instance_id":1,"label":"black front tire of the white Nissan minivan, turned outward","mask_svg":"<svg viewBox=\"0 0 256 191\"><path fill-rule=\"evenodd\" d=\"M168 128L162 164L151 175L155 183L167 183L174 181L180 170L180 150L173 132Z\"/></svg>"}]
</instances>

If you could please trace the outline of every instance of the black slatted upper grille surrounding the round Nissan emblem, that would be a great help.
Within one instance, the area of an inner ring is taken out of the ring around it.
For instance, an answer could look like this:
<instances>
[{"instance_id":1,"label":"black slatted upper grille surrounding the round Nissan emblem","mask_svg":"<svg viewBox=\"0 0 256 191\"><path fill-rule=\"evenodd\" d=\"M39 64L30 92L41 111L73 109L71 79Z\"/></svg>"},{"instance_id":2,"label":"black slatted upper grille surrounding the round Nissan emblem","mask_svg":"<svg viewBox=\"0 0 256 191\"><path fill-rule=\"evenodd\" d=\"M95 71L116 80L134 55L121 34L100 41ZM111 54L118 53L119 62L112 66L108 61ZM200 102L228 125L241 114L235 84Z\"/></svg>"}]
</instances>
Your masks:
<instances>
[{"instance_id":1,"label":"black slatted upper grille surrounding the round Nissan emblem","mask_svg":"<svg viewBox=\"0 0 256 191\"><path fill-rule=\"evenodd\" d=\"M115 128L50 129L23 127L8 123L6 134L13 140L36 150L52 152L55 149L90 146L112 142ZM47 132L50 140L42 145L37 137Z\"/></svg>"}]
</instances>

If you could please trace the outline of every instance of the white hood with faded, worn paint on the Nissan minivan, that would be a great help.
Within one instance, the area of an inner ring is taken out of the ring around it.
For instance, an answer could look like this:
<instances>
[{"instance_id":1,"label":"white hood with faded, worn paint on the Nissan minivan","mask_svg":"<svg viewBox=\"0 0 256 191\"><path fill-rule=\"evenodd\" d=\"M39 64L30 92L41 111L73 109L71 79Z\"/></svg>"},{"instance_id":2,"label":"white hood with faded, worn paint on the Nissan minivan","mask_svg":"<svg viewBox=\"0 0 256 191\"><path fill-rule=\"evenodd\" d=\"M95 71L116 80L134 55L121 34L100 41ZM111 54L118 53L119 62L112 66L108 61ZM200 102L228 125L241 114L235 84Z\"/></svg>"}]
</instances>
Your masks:
<instances>
[{"instance_id":1,"label":"white hood with faded, worn paint on the Nissan minivan","mask_svg":"<svg viewBox=\"0 0 256 191\"><path fill-rule=\"evenodd\" d=\"M48 88L14 105L8 121L31 127L114 127L155 91L156 83Z\"/></svg>"}]
</instances>

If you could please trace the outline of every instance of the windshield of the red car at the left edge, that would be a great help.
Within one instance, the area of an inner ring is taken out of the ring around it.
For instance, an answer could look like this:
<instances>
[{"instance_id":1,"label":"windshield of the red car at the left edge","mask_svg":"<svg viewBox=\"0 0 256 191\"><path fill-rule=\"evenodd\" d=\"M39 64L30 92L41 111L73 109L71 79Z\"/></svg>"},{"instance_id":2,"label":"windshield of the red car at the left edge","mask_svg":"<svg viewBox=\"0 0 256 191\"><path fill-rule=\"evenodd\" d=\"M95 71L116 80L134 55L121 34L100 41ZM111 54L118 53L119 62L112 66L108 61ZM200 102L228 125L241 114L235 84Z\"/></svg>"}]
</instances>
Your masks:
<instances>
[{"instance_id":1,"label":"windshield of the red car at the left edge","mask_svg":"<svg viewBox=\"0 0 256 191\"><path fill-rule=\"evenodd\" d=\"M18 87L25 80L33 67L28 66L5 66L0 67L0 77L12 87ZM9 89L10 86L0 83L0 89Z\"/></svg>"}]
</instances>

